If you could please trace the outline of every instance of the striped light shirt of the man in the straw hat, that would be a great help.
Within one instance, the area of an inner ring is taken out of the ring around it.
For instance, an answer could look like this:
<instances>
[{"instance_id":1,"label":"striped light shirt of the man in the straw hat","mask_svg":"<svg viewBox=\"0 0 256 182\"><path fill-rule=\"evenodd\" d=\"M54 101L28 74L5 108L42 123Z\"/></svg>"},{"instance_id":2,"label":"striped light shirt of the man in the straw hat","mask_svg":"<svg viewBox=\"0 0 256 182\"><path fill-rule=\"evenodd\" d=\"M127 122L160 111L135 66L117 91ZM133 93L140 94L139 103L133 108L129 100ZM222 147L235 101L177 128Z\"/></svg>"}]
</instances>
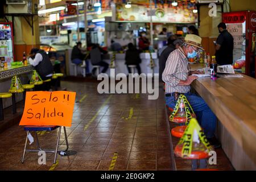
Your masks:
<instances>
[{"instance_id":1,"label":"striped light shirt of the man in the straw hat","mask_svg":"<svg viewBox=\"0 0 256 182\"><path fill-rule=\"evenodd\" d=\"M166 93L187 93L190 86L178 85L180 80L187 80L189 74L188 59L181 47L172 51L166 61L162 80L166 82Z\"/></svg>"}]
</instances>

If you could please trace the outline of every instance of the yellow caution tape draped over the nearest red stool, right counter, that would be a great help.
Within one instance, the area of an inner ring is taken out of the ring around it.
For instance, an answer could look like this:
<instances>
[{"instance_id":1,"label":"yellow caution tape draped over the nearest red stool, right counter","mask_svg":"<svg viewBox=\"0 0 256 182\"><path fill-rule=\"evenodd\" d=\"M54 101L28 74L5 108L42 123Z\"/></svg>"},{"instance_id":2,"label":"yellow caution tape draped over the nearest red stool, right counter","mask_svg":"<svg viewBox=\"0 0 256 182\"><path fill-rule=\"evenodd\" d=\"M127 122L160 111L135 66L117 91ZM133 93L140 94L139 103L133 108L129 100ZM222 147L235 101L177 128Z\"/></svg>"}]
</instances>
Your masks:
<instances>
[{"instance_id":1,"label":"yellow caution tape draped over the nearest red stool, right counter","mask_svg":"<svg viewBox=\"0 0 256 182\"><path fill-rule=\"evenodd\" d=\"M199 140L201 143L203 143L203 145L207 149L207 152L210 152L212 150L212 146L210 146L210 143L208 142L199 123L195 118L192 118L189 121L189 124L185 129L183 136L180 138L179 143L177 144L177 145L183 144L182 151L181 151L182 158L188 158L189 155L191 155L193 135L195 134L194 131L198 134Z\"/></svg>"}]
</instances>

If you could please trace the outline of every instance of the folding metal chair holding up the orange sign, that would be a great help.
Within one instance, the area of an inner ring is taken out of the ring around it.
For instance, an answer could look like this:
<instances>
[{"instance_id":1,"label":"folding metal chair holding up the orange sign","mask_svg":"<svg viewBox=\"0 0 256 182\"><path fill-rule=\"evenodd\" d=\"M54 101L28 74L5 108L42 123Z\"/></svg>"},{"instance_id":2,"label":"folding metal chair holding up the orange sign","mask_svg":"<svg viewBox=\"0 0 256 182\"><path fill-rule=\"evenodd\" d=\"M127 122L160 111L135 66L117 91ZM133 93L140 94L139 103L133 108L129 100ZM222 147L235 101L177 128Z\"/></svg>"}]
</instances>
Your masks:
<instances>
[{"instance_id":1,"label":"folding metal chair holding up the orange sign","mask_svg":"<svg viewBox=\"0 0 256 182\"><path fill-rule=\"evenodd\" d=\"M59 128L59 133L57 135L57 142L56 142L56 148L54 150L43 150L40 147L39 144L39 139L38 139L38 134L36 133L36 131L53 131L55 129ZM38 146L38 150L27 150L27 137L26 137L26 142L25 142L25 146L24 146L24 151L23 151L23 156L22 156L22 163L24 162L24 156L26 152L39 152L39 151L44 151L44 152L53 152L55 154L54 156L54 160L53 163L56 163L56 158L57 158L57 152L58 148L59 148L59 141L60 141L60 133L61 133L61 126L24 126L24 130L27 131L27 136L30 133L30 131L35 131L35 135L36 135L36 145ZM67 132L66 132L66 128L64 126L64 134L65 134L65 142L66 142L66 150L68 150L68 137L67 137Z\"/></svg>"}]
</instances>

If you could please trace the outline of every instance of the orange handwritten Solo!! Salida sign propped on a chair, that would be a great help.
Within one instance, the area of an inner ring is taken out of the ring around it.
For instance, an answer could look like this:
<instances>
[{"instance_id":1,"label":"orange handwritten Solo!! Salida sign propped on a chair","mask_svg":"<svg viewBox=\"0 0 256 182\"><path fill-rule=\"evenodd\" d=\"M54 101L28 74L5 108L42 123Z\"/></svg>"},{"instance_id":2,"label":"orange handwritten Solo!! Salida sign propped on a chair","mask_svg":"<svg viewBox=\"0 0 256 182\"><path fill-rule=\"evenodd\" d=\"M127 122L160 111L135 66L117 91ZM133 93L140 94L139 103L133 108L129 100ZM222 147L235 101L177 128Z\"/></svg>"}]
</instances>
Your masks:
<instances>
[{"instance_id":1,"label":"orange handwritten Solo!! Salida sign propped on a chair","mask_svg":"<svg viewBox=\"0 0 256 182\"><path fill-rule=\"evenodd\" d=\"M27 92L19 125L71 126L76 92Z\"/></svg>"}]
</instances>

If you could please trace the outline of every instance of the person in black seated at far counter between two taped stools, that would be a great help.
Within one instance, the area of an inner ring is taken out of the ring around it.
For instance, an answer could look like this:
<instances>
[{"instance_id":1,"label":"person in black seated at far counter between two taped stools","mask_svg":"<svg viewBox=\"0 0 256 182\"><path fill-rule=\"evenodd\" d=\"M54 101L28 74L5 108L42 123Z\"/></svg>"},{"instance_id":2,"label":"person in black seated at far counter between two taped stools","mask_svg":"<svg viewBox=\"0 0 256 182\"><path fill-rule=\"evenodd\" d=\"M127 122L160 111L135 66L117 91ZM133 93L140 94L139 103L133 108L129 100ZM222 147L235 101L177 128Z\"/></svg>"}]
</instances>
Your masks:
<instances>
[{"instance_id":1,"label":"person in black seated at far counter between two taped stools","mask_svg":"<svg viewBox=\"0 0 256 182\"><path fill-rule=\"evenodd\" d=\"M125 64L127 65L129 73L131 73L131 69L128 67L128 65L136 65L138 74L141 74L141 67L139 66L141 63L141 58L139 57L140 53L141 51L135 48L133 43L128 44L128 49L125 52Z\"/></svg>"}]
</instances>

